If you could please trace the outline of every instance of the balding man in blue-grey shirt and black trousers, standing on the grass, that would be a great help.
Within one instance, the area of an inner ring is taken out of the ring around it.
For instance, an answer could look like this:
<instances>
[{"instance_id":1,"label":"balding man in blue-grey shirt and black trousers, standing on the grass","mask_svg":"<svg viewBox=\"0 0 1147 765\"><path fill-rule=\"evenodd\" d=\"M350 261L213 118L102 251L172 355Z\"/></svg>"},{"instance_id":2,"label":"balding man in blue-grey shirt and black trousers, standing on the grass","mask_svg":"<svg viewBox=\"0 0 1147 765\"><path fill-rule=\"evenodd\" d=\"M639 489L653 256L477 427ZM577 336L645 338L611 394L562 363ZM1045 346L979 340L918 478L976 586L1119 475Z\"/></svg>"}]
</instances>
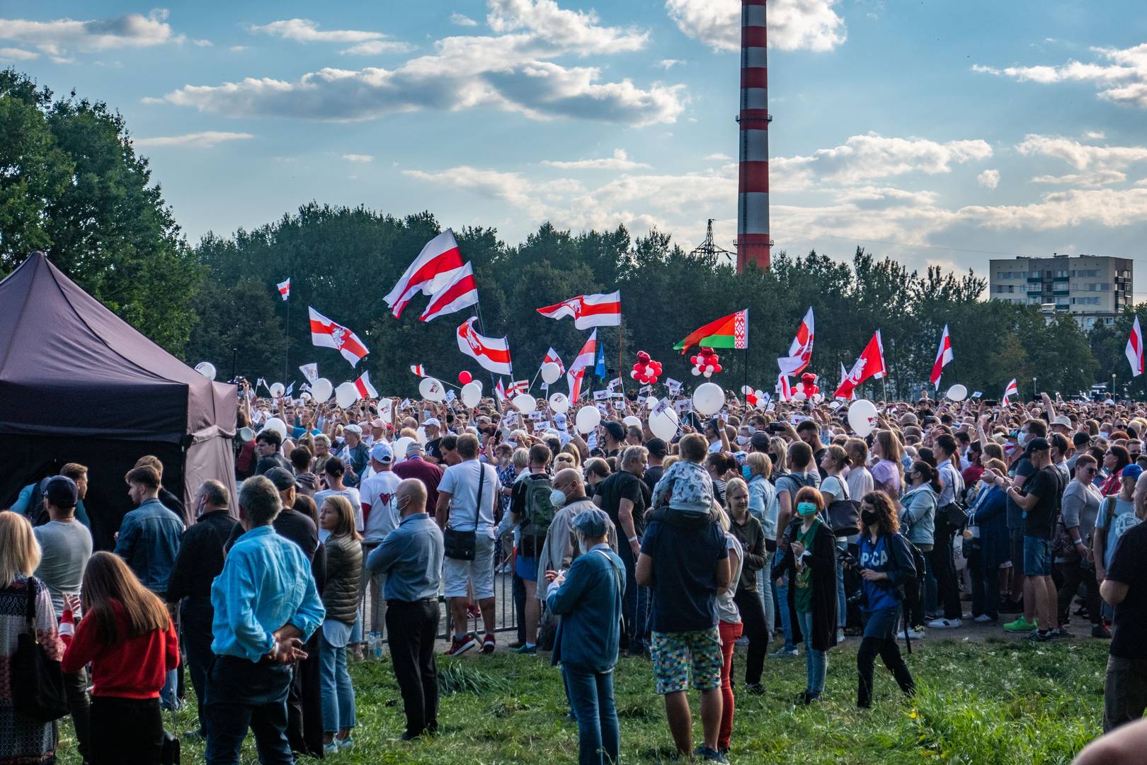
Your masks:
<instances>
[{"instance_id":1,"label":"balding man in blue-grey shirt and black trousers, standing on the grass","mask_svg":"<svg viewBox=\"0 0 1147 765\"><path fill-rule=\"evenodd\" d=\"M395 678L403 693L409 741L438 729L438 669L434 645L438 634L438 586L442 578L442 530L427 514L427 490L416 478L398 484L398 528L367 557L366 565L385 577L387 635Z\"/></svg>"}]
</instances>

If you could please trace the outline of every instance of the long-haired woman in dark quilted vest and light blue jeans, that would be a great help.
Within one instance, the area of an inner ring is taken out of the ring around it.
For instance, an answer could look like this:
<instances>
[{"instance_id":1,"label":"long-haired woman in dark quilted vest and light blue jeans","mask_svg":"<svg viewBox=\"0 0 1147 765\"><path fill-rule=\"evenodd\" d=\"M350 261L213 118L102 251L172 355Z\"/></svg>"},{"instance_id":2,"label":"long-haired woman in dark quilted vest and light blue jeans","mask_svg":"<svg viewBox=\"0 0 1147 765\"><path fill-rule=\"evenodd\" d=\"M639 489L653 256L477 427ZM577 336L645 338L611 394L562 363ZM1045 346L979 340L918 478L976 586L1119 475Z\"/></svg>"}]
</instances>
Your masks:
<instances>
[{"instance_id":1,"label":"long-haired woman in dark quilted vest and light blue jeans","mask_svg":"<svg viewBox=\"0 0 1147 765\"><path fill-rule=\"evenodd\" d=\"M327 609L327 618L322 622L319 650L323 751L330 755L353 746L354 688L346 671L346 643L358 618L362 545L354 531L354 510L345 497L331 495L322 500L319 525L330 534L325 542L327 586L322 591L322 606Z\"/></svg>"}]
</instances>

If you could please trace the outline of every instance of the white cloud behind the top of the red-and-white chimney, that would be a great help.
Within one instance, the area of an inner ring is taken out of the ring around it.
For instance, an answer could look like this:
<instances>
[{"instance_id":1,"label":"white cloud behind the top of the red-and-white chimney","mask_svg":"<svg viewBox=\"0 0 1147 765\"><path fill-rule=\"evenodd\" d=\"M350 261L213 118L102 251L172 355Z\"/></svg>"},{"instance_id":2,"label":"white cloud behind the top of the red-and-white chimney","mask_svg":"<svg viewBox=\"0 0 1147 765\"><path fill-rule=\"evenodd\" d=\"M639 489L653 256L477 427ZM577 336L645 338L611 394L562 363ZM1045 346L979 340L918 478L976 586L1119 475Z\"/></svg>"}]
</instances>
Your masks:
<instances>
[{"instance_id":1,"label":"white cloud behind the top of the red-and-white chimney","mask_svg":"<svg viewBox=\"0 0 1147 765\"><path fill-rule=\"evenodd\" d=\"M771 0L768 47L781 50L832 50L848 30L833 7L837 0ZM740 0L665 0L670 18L686 36L713 50L741 48Z\"/></svg>"}]
</instances>

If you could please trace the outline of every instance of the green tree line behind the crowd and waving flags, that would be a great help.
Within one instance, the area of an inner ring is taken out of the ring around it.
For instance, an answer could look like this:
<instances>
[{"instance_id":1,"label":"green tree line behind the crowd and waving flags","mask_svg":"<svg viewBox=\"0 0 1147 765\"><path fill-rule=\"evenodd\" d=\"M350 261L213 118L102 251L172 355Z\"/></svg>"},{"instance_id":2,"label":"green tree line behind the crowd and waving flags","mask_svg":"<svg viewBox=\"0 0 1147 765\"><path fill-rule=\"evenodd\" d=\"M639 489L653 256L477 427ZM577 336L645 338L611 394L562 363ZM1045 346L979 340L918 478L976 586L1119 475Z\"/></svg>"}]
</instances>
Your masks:
<instances>
[{"instance_id":1,"label":"green tree line behind the crowd and waving flags","mask_svg":"<svg viewBox=\"0 0 1147 765\"><path fill-rule=\"evenodd\" d=\"M209 360L220 377L298 380L319 362L336 384L362 369L381 391L413 395L409 366L447 381L461 369L489 380L458 351L454 329L469 313L419 321L424 297L400 319L383 302L407 264L443 225L430 212L398 217L365 206L312 202L252 231L209 233L190 244L153 184L123 117L75 93L56 99L24 75L0 71L0 272L34 249L117 314L189 364ZM668 233L571 233L546 223L524 242L485 227L455 231L473 261L487 335L509 337L515 377L531 377L553 346L569 364L588 333L536 312L575 295L622 292L623 325L599 330L610 374L627 372L639 350L662 361L664 376L686 383L687 356L674 343L702 323L749 309L749 350L718 351L716 382L772 390L775 359L812 306L816 346L810 370L830 392L841 364L851 367L881 330L888 378L863 395L913 396L928 385L944 325L954 361L942 389L962 383L999 398L1015 377L1023 396L1064 397L1097 382L1128 382L1123 344L1134 313L1085 334L1070 318L1037 307L981 299L986 282L972 271L908 271L857 248L849 261L820 252L778 252L767 271L736 274L723 257L690 252ZM290 278L289 302L275 283ZM350 327L370 354L352 369L336 351L311 345L306 306ZM288 323L288 311L289 323ZM286 370L284 370L286 366ZM1147 387L1136 381L1132 392Z\"/></svg>"}]
</instances>

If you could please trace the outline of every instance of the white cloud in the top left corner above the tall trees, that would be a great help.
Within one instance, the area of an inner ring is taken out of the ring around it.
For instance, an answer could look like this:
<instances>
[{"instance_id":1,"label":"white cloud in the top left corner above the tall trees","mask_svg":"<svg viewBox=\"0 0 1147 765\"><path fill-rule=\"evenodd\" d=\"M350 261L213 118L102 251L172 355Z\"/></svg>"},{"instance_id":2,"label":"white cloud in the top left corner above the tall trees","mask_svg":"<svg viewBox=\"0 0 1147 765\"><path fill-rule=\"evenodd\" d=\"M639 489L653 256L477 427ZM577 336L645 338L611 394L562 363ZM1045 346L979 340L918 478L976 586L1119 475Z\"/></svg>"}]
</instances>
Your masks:
<instances>
[{"instance_id":1,"label":"white cloud in the top left corner above the tall trees","mask_svg":"<svg viewBox=\"0 0 1147 765\"><path fill-rule=\"evenodd\" d=\"M127 14L116 18L93 18L76 21L58 18L36 22L23 18L0 18L0 40L15 40L25 46L34 46L54 61L70 61L71 49L85 53L114 50L128 47L148 47L167 42L182 42L184 36L175 34L166 23L167 11L153 10L147 16ZM13 56L15 57L15 56Z\"/></svg>"}]
</instances>

